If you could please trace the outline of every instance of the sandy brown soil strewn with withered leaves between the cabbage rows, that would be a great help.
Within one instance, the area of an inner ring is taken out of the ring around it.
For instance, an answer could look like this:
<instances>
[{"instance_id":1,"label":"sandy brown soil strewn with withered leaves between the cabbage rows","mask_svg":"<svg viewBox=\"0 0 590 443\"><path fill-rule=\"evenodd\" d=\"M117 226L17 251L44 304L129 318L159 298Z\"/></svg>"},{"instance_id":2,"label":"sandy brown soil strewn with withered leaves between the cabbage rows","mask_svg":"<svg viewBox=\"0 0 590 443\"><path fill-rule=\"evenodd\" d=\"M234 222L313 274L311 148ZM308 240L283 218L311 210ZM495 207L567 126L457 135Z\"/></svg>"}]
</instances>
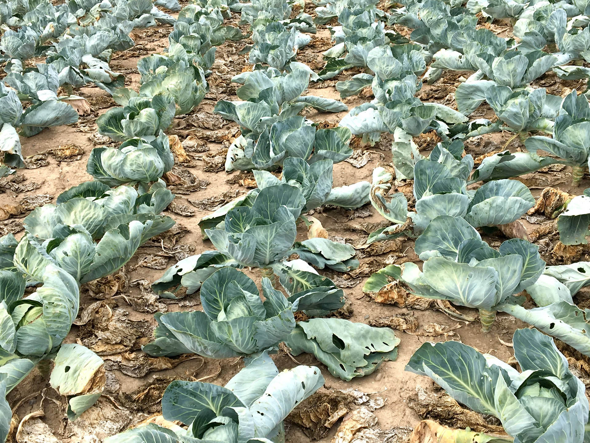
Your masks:
<instances>
[{"instance_id":1,"label":"sandy brown soil strewn with withered leaves between the cabbage rows","mask_svg":"<svg viewBox=\"0 0 590 443\"><path fill-rule=\"evenodd\" d=\"M126 73L128 86L139 86L137 61L142 56L164 50L168 46L167 37L171 29L171 27L163 26L149 30L135 30L133 34L136 46L132 50L113 57L112 69ZM198 220L210 211L199 209L191 201L202 201L224 195L231 199L232 196L245 193L252 187L251 174L238 172L227 174L223 171L224 148L231 143L237 128L234 123L225 122L219 116L212 114L212 108L217 100L237 99L236 85L230 84L230 79L247 69L247 63L245 63L247 56L238 55L238 51L245 43L247 42L228 42L218 48L216 61L212 67L213 74L208 79L211 91L198 109L188 116L176 118L169 131L169 134L178 135L181 141L185 141L188 137L195 141L196 148L189 152L189 162L177 164L173 170L176 175L185 179L181 188L176 191L173 205L177 212L187 215L179 215L171 210L173 206L169 207L165 211L166 215L177 222L171 233L162 234L159 239L141 247L136 256L125 266L124 272L118 273L114 278L103 279L101 285L84 285L81 291L81 319L77 321L78 325L73 326L66 341L68 343L78 341L89 346L106 360L105 395L78 421L71 423L64 418L66 399L61 398L51 388L43 390L48 385L37 372L34 372L9 395L9 402L14 407L19 400L27 398L31 393L37 393L37 396L20 403L15 409L17 420L31 411L42 409L45 413L43 421L49 426L45 431L50 430L60 441L100 442L108 435L116 434L129 425L159 412L159 400L171 380L205 379L207 382L223 385L244 366L243 361L235 359L209 360L201 357L188 360L148 359L145 354L142 354L140 347L151 340L152 330L156 324L153 320L153 312L201 309L198 294L174 301L158 299L149 289L149 284L159 278L164 269L173 265L178 259L212 249L210 242L202 240L197 226ZM322 25L317 34L312 35L312 44L297 54L297 60L304 61L317 71L322 67L322 51L331 45L329 32ZM345 71L335 79L311 84L307 93L339 99L334 84L337 80L347 79L356 72ZM452 94L458 84L457 77L456 74L445 73L435 84L425 85L420 92L421 99L452 105ZM585 89L585 84L581 84L584 82L577 82L575 85L569 84L572 82L567 83L559 82L551 76L544 76L538 81L537 86L550 87L550 92L556 94L565 94L568 92L566 88ZM27 157L28 166L26 170L18 171L17 175L8 179L11 184L6 184L6 180L0 180L0 207L23 201L26 203L29 200L55 203L55 198L67 188L91 180L86 172L89 153L95 146L108 142L96 132L94 120L113 106L113 102L107 93L91 85L75 93L89 100L91 114L81 117L80 122L71 127L45 129L39 135L22 141L23 154ZM365 95L349 97L344 102L352 108L371 99L369 92ZM307 118L315 122L326 122L332 125L335 125L344 115L345 113L306 113ZM474 116L478 117L492 115L487 106L481 106L474 113ZM466 151L474 157L496 151L501 149L509 136L509 133L500 133L471 140L466 145ZM422 135L415 141L421 151L427 153L438 139L435 135ZM74 149L77 155L67 159L56 157L56 148L71 147L71 145L80 148ZM355 149L359 149L358 155L366 154L369 160L360 168L354 167L349 162L335 165L334 186L352 184L360 180L371 181L373 168L378 165L389 165L391 162L391 136L389 135L384 135L381 142L375 146L361 146L358 141L353 141L353 145ZM518 151L523 147L519 142L514 141L509 144L509 148ZM170 177L168 180L173 181ZM553 168L529 174L522 180L527 180L527 184L537 196L542 188L550 185L555 185L572 194L580 194L584 188L590 186L588 177L585 177L581 187L571 188L569 168ZM396 185L398 190L409 189L411 192L408 184L396 183ZM35 196L46 197L35 199L33 198ZM29 207L32 209L31 206ZM187 208L188 211L186 211ZM22 236L22 217L27 213L28 211L23 209L20 215L17 214L0 222L0 234L12 232L17 237ZM366 238L368 232L372 230L367 226L368 224L383 221L371 206L357 211L321 209L314 213L314 217L323 223L331 236L342 237L355 245L362 243L362 239ZM363 229L368 232L363 232ZM506 238L498 230L484 232L484 235L495 246ZM305 238L306 230L301 226L299 240ZM546 242L543 243L545 240ZM589 251L584 246L575 247L573 248L575 250L566 252L555 250L554 231L542 237L539 244L542 246L543 257L550 264L588 259ZM402 238L368 249L359 249L357 258L360 259L361 266L358 270L348 275L331 271L323 272L345 288L350 301L346 311L350 320L369 323L380 317L404 314L413 316L417 321L418 328L414 333L396 331L401 338L398 359L384 363L370 376L354 379L352 382L343 382L330 376L326 367L319 364L326 377L326 389L354 387L366 393L378 393L375 395L385 399L385 405L375 411L378 417L377 426L381 429L413 427L423 418L409 406L409 399L417 395L420 387L426 392L434 392L434 383L427 377L415 376L404 371L405 364L412 353L422 343L429 340L461 340L480 351L494 354L501 360L510 361L513 350L507 344L512 342L512 334L516 328L526 327L525 324L514 320L509 315L500 314L491 332L482 334L477 321L466 324L437 310L415 310L390 304L378 304L362 293L361 288L366 278L383 265L406 261L418 262L412 246L413 242L410 239ZM250 275L260 281L260 276L257 274L258 272L253 270ZM113 291L113 289L116 290ZM584 292L581 297L585 297ZM466 315L476 315L476 312L466 308L459 310ZM430 328L425 326L431 323L440 325L441 329L447 333L428 335L427 331ZM274 360L280 369L296 365L284 351L276 354ZM314 357L309 355L299 356L297 360L304 364L317 364ZM337 424L321 441L329 442L336 428ZM310 439L299 427L288 426L287 441L303 443ZM401 442L402 439L399 441Z\"/></svg>"}]
</instances>

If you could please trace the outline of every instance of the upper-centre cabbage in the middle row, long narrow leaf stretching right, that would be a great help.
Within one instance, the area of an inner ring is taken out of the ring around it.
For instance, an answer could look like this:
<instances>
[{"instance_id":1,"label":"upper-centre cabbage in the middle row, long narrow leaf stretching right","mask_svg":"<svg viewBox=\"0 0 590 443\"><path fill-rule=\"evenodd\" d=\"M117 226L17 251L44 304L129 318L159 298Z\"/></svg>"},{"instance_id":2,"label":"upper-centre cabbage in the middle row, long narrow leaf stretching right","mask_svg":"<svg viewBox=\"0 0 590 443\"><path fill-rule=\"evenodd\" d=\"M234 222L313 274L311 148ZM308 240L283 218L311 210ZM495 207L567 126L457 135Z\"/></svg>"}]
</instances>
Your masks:
<instances>
[{"instance_id":1,"label":"upper-centre cabbage in the middle row, long narrow leaf stretching right","mask_svg":"<svg viewBox=\"0 0 590 443\"><path fill-rule=\"evenodd\" d=\"M242 135L258 139L273 123L299 114L311 107L322 112L348 110L344 103L318 96L301 96L312 79L317 75L302 63L291 63L290 73L281 74L274 69L255 70L238 74L232 82L242 83L237 96L243 101L219 100L214 112L238 125Z\"/></svg>"}]
</instances>

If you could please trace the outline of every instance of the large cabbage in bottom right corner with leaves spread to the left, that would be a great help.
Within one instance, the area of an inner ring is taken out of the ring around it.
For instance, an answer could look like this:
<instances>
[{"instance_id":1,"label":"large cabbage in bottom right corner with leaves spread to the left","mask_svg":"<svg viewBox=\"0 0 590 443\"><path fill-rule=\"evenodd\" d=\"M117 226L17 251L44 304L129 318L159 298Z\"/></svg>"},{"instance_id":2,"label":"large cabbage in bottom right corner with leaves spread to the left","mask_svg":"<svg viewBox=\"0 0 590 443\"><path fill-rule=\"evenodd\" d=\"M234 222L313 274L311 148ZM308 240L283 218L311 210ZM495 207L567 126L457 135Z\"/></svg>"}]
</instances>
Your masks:
<instances>
[{"instance_id":1,"label":"large cabbage in bottom right corner with leaves spread to the left","mask_svg":"<svg viewBox=\"0 0 590 443\"><path fill-rule=\"evenodd\" d=\"M422 344L406 370L431 377L473 411L495 416L514 441L582 443L588 422L584 383L550 337L519 329L513 343L520 373L458 341Z\"/></svg>"}]
</instances>

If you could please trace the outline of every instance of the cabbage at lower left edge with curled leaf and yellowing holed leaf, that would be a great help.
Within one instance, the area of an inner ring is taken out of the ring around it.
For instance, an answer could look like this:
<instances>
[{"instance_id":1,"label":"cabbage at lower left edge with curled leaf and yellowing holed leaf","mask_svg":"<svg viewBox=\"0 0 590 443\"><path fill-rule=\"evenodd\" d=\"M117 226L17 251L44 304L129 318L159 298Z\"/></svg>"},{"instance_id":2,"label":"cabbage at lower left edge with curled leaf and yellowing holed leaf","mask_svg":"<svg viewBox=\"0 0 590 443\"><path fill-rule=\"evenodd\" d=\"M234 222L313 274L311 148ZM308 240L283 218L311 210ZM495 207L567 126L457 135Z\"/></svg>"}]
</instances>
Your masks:
<instances>
[{"instance_id":1,"label":"cabbage at lower left edge with curled leaf and yellowing holed leaf","mask_svg":"<svg viewBox=\"0 0 590 443\"><path fill-rule=\"evenodd\" d=\"M4 387L4 392L0 389L0 403L3 394L14 389L35 366L43 376L50 377L50 361L55 359L50 383L62 395L71 396L67 414L74 420L104 389L103 360L84 346L62 346L78 315L78 284L63 269L48 265L43 285L23 298L24 279L17 276L22 279L21 288L13 288L12 294L0 301L0 386ZM8 422L11 416L9 409ZM6 432L8 428L0 421L0 437Z\"/></svg>"}]
</instances>

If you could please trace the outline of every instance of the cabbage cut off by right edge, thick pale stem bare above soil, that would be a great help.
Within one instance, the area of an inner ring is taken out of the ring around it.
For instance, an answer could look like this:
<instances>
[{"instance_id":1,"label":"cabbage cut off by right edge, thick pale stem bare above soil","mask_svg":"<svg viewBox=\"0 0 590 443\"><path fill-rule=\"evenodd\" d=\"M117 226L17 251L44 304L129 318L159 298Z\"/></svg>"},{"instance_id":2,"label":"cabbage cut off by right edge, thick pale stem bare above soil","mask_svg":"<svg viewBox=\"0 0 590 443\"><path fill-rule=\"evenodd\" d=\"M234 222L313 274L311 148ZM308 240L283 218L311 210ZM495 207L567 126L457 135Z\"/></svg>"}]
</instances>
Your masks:
<instances>
[{"instance_id":1,"label":"cabbage cut off by right edge, thick pale stem bare above soil","mask_svg":"<svg viewBox=\"0 0 590 443\"><path fill-rule=\"evenodd\" d=\"M542 150L555 155L556 162L572 165L572 185L579 186L590 152L590 140L585 136L590 131L590 104L585 96L575 91L562 103L555 119L553 138L532 136L525 141L528 151L535 156Z\"/></svg>"}]
</instances>

